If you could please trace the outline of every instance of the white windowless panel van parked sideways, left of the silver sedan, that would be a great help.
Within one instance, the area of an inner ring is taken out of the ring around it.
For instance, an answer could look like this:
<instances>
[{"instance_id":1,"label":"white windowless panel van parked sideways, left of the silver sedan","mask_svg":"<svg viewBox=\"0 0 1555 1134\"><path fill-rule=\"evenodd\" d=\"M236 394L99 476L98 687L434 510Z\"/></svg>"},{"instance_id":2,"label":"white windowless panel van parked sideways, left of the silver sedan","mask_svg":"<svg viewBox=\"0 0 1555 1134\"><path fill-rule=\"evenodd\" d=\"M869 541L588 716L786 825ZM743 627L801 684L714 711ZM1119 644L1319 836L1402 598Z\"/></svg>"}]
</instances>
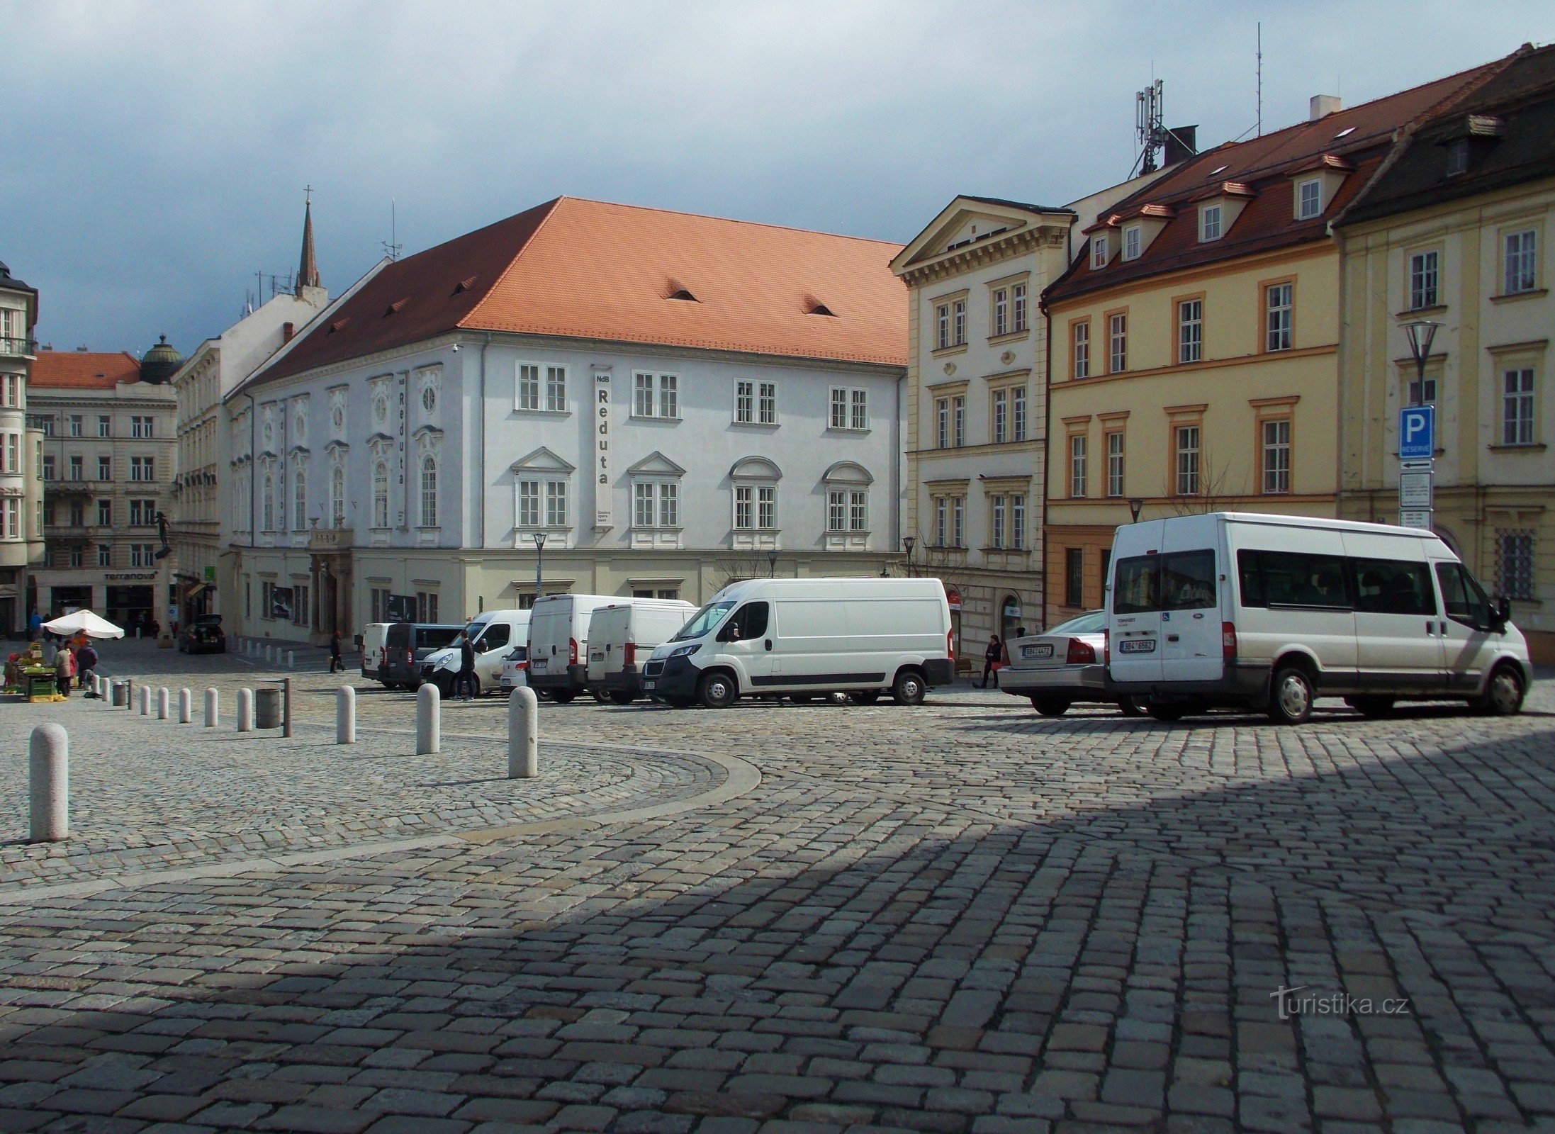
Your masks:
<instances>
[{"instance_id":1,"label":"white windowless panel van parked sideways, left of the silver sedan","mask_svg":"<svg viewBox=\"0 0 1555 1134\"><path fill-rule=\"evenodd\" d=\"M653 650L642 688L678 708L753 694L882 691L919 705L955 669L938 579L751 579L718 591Z\"/></svg>"}]
</instances>

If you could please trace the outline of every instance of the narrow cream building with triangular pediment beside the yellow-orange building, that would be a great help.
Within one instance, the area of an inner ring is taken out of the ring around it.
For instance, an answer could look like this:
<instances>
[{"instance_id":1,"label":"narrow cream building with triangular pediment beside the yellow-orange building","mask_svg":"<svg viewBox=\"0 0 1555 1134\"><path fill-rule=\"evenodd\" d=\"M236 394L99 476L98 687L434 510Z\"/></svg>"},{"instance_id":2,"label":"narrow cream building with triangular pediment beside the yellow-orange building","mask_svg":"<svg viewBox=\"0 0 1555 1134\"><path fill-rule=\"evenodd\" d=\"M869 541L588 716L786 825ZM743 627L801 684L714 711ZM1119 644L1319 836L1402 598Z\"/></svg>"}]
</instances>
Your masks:
<instances>
[{"instance_id":1,"label":"narrow cream building with triangular pediment beside the yellow-orange building","mask_svg":"<svg viewBox=\"0 0 1555 1134\"><path fill-rule=\"evenodd\" d=\"M1042 611L1047 336L1067 208L959 196L893 261L908 288L907 501L914 569L939 576L964 647Z\"/></svg>"}]
</instances>

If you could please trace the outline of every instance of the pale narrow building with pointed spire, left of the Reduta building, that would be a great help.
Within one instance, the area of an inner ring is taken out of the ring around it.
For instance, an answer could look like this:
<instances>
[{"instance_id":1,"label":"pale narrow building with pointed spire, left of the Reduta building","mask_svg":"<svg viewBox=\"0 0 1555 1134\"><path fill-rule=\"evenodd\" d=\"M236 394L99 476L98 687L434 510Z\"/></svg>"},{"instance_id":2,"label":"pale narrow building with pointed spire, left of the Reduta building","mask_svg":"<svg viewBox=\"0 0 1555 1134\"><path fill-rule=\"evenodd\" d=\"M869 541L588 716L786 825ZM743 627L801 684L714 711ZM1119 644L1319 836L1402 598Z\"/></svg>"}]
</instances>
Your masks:
<instances>
[{"instance_id":1,"label":"pale narrow building with pointed spire, left of the Reduta building","mask_svg":"<svg viewBox=\"0 0 1555 1134\"><path fill-rule=\"evenodd\" d=\"M177 394L177 473L173 478L174 501L169 524L173 576L177 607L185 619L194 614L233 611L224 602L221 562L221 530L224 493L230 473L229 440L232 431L222 409L222 398L232 394L271 355L300 333L328 303L328 292L319 283L319 268L313 247L313 208L303 216L303 249L297 283L260 310L247 313L225 331L205 339L173 375Z\"/></svg>"}]
</instances>

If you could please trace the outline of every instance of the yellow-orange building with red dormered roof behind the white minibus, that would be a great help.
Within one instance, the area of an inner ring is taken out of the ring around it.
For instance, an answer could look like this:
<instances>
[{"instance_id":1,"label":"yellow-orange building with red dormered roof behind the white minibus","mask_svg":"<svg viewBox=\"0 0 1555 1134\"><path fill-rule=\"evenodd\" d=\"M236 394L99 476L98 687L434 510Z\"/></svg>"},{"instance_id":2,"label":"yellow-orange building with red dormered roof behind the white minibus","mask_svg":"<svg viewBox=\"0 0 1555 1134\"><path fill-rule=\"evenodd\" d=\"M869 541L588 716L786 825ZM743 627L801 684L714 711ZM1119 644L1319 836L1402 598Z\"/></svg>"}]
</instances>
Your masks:
<instances>
[{"instance_id":1,"label":"yellow-orange building with red dormered roof behind the white minibus","mask_svg":"<svg viewBox=\"0 0 1555 1134\"><path fill-rule=\"evenodd\" d=\"M1244 510L1336 515L1339 250L1330 221L1395 131L1487 68L1168 170L1099 216L1043 292L1050 352L1047 624L1102 604L1118 524Z\"/></svg>"}]
</instances>

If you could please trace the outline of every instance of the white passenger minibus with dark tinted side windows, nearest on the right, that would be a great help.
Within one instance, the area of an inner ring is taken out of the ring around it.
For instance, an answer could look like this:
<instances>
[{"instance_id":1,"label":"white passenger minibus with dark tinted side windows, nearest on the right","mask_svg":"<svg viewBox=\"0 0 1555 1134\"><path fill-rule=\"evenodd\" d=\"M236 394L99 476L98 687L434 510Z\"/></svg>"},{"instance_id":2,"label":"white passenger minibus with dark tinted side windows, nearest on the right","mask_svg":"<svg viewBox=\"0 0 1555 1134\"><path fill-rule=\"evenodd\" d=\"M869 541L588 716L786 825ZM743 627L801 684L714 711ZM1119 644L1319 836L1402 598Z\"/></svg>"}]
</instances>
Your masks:
<instances>
[{"instance_id":1,"label":"white passenger minibus with dark tinted side windows, nearest on the right","mask_svg":"<svg viewBox=\"0 0 1555 1134\"><path fill-rule=\"evenodd\" d=\"M1445 698L1516 712L1532 669L1508 616L1431 532L1171 516L1113 538L1107 667L1157 720L1244 705L1298 723L1325 695L1367 716Z\"/></svg>"}]
</instances>

